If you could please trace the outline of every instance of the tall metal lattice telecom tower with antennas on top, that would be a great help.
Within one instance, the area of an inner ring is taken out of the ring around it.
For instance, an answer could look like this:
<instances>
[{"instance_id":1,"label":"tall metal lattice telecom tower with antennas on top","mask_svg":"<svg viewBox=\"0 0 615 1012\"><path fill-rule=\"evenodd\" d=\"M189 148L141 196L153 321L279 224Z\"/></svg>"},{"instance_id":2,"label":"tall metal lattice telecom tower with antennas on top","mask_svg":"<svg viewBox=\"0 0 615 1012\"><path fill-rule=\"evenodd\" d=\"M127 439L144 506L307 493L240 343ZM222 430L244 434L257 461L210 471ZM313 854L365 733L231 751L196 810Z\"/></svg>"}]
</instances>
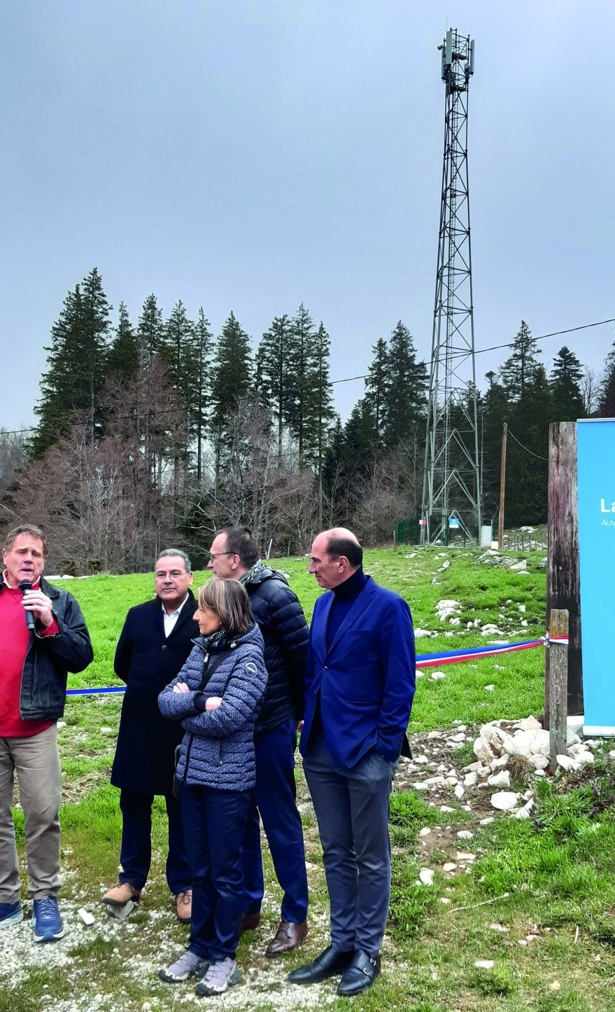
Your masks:
<instances>
[{"instance_id":1,"label":"tall metal lattice telecom tower with antennas on top","mask_svg":"<svg viewBox=\"0 0 615 1012\"><path fill-rule=\"evenodd\" d=\"M474 43L449 28L438 272L427 413L421 543L448 543L455 528L480 534L474 320L467 185L467 92ZM469 368L468 368L469 366ZM468 372L470 376L468 377Z\"/></svg>"}]
</instances>

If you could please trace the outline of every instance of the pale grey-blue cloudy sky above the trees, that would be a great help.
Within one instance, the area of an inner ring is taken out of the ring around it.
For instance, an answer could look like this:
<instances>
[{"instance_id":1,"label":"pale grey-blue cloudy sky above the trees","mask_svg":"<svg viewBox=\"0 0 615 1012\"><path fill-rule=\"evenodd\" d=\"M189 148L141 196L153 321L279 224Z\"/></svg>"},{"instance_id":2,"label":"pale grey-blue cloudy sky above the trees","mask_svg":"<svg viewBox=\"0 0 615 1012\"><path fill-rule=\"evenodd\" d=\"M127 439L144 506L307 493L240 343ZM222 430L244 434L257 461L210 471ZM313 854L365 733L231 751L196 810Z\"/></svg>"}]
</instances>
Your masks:
<instances>
[{"instance_id":1,"label":"pale grey-blue cloudy sky above the trees","mask_svg":"<svg viewBox=\"0 0 615 1012\"><path fill-rule=\"evenodd\" d=\"M0 426L29 425L92 267L136 323L298 305L331 378L398 320L431 354L447 27L468 95L475 348L615 317L612 0L19 0L0 13ZM600 371L613 323L540 341ZM506 349L478 353L476 376ZM346 418L363 382L336 384Z\"/></svg>"}]
</instances>

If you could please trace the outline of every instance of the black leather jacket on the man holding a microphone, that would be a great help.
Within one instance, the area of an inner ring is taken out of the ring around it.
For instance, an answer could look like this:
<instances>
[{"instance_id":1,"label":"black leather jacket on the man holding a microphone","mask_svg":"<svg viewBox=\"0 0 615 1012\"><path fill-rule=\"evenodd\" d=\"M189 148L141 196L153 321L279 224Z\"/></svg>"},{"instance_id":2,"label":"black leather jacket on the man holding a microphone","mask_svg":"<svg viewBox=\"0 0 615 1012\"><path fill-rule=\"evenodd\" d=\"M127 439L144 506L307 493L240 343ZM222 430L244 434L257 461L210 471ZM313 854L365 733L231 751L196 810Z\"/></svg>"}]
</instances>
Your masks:
<instances>
[{"instance_id":1,"label":"black leather jacket on the man holding a microphone","mask_svg":"<svg viewBox=\"0 0 615 1012\"><path fill-rule=\"evenodd\" d=\"M0 593L3 588L0 580ZM30 632L19 694L22 721L57 721L62 716L68 672L83 671L94 657L85 618L73 595L43 579L40 590L52 600L60 632L39 636L42 625L38 620Z\"/></svg>"}]
</instances>

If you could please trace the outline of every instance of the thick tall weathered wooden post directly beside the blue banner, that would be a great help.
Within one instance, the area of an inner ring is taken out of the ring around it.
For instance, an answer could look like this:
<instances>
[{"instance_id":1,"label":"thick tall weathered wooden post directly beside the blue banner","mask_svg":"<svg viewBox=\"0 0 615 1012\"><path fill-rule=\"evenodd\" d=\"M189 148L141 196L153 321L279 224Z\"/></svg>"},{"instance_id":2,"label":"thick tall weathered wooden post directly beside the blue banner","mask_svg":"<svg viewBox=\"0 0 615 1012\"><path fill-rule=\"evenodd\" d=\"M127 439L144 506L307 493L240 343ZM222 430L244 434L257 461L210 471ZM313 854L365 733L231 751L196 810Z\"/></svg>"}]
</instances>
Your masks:
<instances>
[{"instance_id":1,"label":"thick tall weathered wooden post directly beside the blue banner","mask_svg":"<svg viewBox=\"0 0 615 1012\"><path fill-rule=\"evenodd\" d=\"M579 577L579 504L577 423L549 426L546 627L552 608L568 613L567 711L583 713L581 659L581 589ZM549 727L550 652L546 651L544 727Z\"/></svg>"}]
</instances>

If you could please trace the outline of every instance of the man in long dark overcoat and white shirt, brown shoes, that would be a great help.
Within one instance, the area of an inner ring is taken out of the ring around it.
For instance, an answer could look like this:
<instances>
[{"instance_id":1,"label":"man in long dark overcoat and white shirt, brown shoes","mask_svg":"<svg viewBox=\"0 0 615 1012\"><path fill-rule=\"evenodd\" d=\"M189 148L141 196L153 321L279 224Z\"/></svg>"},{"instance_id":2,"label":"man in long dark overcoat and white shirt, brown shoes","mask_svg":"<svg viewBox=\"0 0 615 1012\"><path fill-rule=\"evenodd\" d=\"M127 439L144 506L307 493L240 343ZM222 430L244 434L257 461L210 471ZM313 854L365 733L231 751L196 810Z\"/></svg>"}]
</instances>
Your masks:
<instances>
[{"instance_id":1,"label":"man in long dark overcoat and white shirt, brown shoes","mask_svg":"<svg viewBox=\"0 0 615 1012\"><path fill-rule=\"evenodd\" d=\"M119 787L121 849L119 881L102 898L115 911L138 902L152 860L152 806L162 794L169 821L167 882L180 921L189 923L192 894L181 821L173 796L175 748L183 729L165 721L158 695L181 669L198 634L192 571L184 552L167 549L156 563L156 597L130 608L117 643L113 668L126 683L111 783Z\"/></svg>"}]
</instances>

